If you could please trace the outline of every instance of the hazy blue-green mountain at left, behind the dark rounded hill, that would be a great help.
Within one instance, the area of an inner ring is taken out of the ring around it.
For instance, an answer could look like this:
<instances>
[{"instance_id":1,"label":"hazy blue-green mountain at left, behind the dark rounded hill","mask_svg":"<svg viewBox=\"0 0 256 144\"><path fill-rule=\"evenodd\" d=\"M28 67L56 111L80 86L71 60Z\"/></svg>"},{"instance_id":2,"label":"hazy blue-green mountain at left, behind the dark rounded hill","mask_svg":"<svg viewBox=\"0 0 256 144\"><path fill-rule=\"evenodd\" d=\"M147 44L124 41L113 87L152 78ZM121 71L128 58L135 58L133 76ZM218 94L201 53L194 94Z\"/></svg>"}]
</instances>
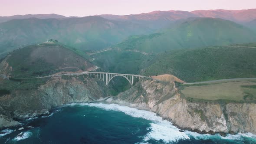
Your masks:
<instances>
[{"instance_id":1,"label":"hazy blue-green mountain at left, behind the dark rounded hill","mask_svg":"<svg viewBox=\"0 0 256 144\"><path fill-rule=\"evenodd\" d=\"M23 19L0 23L0 54L46 39L82 50L99 50L121 42L133 34L151 32L145 26L107 20L99 16L67 19Z\"/></svg>"}]
</instances>

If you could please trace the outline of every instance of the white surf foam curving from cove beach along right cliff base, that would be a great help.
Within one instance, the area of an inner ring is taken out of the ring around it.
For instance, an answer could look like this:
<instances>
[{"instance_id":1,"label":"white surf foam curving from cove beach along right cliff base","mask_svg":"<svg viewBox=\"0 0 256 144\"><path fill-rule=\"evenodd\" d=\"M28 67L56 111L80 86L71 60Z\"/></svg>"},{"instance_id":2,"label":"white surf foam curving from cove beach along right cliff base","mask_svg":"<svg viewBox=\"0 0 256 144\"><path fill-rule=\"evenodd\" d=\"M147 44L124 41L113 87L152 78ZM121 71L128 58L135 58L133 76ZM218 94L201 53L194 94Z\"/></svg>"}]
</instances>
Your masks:
<instances>
[{"instance_id":1,"label":"white surf foam curving from cove beach along right cliff base","mask_svg":"<svg viewBox=\"0 0 256 144\"><path fill-rule=\"evenodd\" d=\"M198 134L192 131L180 132L177 127L172 125L170 121L163 120L161 117L157 116L155 113L150 111L138 110L137 108L130 108L128 106L117 105L117 104L101 104L101 103L83 103L83 104L69 104L67 106L90 106L102 108L106 111L121 111L126 115L130 115L135 118L143 118L149 121L152 121L151 131L144 136L144 140L139 144L145 144L147 141L154 139L157 141L163 141L165 143L177 142L179 140L189 140L190 137L193 137L197 140L207 140L207 139L229 139L229 140L241 140L242 137L252 137L256 139L256 135L252 133L246 134L227 134L226 137L220 136L220 134Z\"/></svg>"}]
</instances>

